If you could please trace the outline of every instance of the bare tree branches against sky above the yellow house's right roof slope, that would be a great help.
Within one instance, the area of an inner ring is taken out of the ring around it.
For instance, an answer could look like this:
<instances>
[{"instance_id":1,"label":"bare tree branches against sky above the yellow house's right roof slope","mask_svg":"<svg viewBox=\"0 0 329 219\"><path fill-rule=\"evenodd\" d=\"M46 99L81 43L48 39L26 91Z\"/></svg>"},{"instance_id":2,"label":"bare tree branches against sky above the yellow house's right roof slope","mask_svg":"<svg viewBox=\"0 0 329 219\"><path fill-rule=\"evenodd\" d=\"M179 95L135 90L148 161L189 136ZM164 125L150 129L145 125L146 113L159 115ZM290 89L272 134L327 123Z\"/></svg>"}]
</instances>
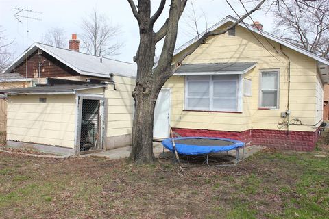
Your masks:
<instances>
[{"instance_id":1,"label":"bare tree branches against sky above the yellow house's right roof slope","mask_svg":"<svg viewBox=\"0 0 329 219\"><path fill-rule=\"evenodd\" d=\"M275 34L322 57L329 58L329 0L274 0Z\"/></svg>"}]
</instances>

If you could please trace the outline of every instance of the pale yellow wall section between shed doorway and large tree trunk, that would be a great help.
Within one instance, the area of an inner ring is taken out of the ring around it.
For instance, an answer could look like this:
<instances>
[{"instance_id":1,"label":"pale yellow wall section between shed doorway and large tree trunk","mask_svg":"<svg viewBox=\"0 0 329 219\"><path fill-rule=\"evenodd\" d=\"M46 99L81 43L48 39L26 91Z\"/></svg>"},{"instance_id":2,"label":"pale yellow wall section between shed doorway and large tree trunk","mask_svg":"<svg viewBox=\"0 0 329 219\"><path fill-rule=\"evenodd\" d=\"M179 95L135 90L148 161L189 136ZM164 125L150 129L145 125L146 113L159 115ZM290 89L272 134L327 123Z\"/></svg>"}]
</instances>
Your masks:
<instances>
[{"instance_id":1,"label":"pale yellow wall section between shed doorway and large tree trunk","mask_svg":"<svg viewBox=\"0 0 329 219\"><path fill-rule=\"evenodd\" d=\"M105 98L108 99L107 137L132 133L134 102L132 91L136 84L132 77L114 75L115 88L108 85Z\"/></svg>"}]
</instances>

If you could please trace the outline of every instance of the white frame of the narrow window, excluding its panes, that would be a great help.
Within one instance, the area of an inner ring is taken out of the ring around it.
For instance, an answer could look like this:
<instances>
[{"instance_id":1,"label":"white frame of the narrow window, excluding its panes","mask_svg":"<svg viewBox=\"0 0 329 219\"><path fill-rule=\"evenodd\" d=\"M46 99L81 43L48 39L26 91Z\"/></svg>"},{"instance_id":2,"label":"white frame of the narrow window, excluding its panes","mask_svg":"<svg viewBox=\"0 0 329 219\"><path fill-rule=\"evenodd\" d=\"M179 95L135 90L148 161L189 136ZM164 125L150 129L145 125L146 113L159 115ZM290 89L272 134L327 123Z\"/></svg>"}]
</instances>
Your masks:
<instances>
[{"instance_id":1,"label":"white frame of the narrow window, excluding its panes","mask_svg":"<svg viewBox=\"0 0 329 219\"><path fill-rule=\"evenodd\" d=\"M262 77L263 73L273 73L276 72L277 77L277 88L276 89L262 89ZM263 91L276 91L276 107L266 107L263 106ZM258 107L260 109L269 109L269 110L279 110L280 109L280 69L262 69L259 73L259 99L258 99Z\"/></svg>"}]
</instances>

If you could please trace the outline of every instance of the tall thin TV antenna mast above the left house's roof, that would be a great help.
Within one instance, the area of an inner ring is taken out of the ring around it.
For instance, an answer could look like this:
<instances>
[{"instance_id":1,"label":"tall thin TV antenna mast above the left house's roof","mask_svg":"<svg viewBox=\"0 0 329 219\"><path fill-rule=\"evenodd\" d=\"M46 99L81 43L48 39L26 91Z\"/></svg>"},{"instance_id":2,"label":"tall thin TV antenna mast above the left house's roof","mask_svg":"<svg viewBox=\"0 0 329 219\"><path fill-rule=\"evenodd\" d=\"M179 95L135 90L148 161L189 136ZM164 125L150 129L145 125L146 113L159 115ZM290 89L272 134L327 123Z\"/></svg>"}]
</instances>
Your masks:
<instances>
[{"instance_id":1,"label":"tall thin TV antenna mast above the left house's roof","mask_svg":"<svg viewBox=\"0 0 329 219\"><path fill-rule=\"evenodd\" d=\"M16 14L14 14L14 17L19 21L19 23L23 23L21 20L22 18L26 19L26 61L25 61L25 79L27 80L27 72L28 72L28 64L27 64L27 50L29 49L28 39L29 39L29 20L36 20L41 21L40 18L38 18L38 14L42 14L42 12L36 12L34 10L29 10L28 8L12 8L16 10Z\"/></svg>"}]
</instances>

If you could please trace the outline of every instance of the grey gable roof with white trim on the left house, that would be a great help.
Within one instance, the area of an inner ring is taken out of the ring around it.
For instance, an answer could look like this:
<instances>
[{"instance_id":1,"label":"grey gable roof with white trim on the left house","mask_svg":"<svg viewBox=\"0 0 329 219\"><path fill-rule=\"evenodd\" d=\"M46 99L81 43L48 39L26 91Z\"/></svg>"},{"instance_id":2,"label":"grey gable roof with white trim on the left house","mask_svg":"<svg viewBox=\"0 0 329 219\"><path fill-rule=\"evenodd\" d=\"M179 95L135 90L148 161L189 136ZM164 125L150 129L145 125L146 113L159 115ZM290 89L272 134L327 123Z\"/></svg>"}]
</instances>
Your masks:
<instances>
[{"instance_id":1,"label":"grey gable roof with white trim on the left house","mask_svg":"<svg viewBox=\"0 0 329 219\"><path fill-rule=\"evenodd\" d=\"M35 42L29 47L27 55L31 55L38 49L42 49L42 51L45 51L66 66L69 66L80 75L110 78L110 74L114 74L126 77L136 77L136 64L133 63L121 62L106 57L99 57L69 49L53 47L39 42ZM14 66L23 62L25 60L25 55L26 51L12 62L4 73L10 73L10 71L14 69Z\"/></svg>"}]
</instances>

